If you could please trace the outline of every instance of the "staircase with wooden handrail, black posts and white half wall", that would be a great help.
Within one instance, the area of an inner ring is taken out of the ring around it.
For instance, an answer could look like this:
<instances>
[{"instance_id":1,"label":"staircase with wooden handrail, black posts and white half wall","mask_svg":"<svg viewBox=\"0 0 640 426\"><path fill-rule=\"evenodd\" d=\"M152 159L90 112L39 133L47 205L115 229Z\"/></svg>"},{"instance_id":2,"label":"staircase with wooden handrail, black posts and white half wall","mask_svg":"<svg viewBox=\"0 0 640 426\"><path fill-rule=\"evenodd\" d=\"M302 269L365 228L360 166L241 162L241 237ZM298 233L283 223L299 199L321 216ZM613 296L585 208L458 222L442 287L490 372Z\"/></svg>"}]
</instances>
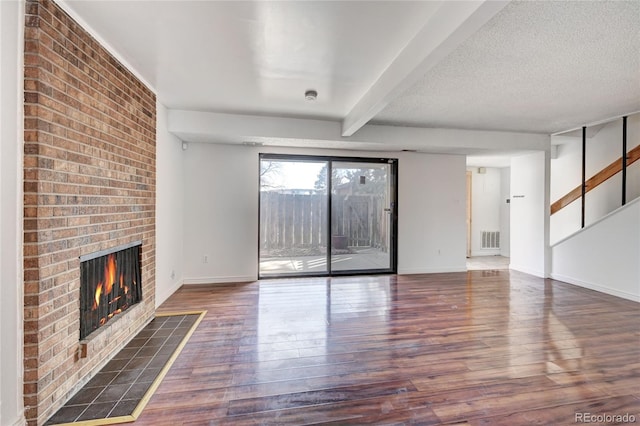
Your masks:
<instances>
[{"instance_id":1,"label":"staircase with wooden handrail, black posts and white half wall","mask_svg":"<svg viewBox=\"0 0 640 426\"><path fill-rule=\"evenodd\" d=\"M599 125L589 144L587 134L569 141L571 157L559 154L555 170L552 160L552 193L568 186L558 179L582 176L550 206L551 277L640 302L640 114ZM616 150L619 158L607 160ZM587 164L597 169L590 176Z\"/></svg>"}]
</instances>

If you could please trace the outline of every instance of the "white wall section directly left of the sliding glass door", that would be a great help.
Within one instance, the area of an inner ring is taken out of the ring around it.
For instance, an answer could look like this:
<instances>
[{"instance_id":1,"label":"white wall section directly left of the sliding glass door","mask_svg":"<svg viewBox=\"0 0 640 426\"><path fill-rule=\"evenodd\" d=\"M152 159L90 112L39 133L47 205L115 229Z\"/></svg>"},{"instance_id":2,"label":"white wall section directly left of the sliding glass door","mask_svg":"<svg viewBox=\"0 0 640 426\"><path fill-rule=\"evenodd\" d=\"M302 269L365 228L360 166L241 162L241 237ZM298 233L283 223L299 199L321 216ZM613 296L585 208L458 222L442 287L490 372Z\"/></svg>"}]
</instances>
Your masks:
<instances>
[{"instance_id":1,"label":"white wall section directly left of the sliding glass door","mask_svg":"<svg viewBox=\"0 0 640 426\"><path fill-rule=\"evenodd\" d=\"M190 143L184 158L184 282L255 280L257 149Z\"/></svg>"}]
</instances>

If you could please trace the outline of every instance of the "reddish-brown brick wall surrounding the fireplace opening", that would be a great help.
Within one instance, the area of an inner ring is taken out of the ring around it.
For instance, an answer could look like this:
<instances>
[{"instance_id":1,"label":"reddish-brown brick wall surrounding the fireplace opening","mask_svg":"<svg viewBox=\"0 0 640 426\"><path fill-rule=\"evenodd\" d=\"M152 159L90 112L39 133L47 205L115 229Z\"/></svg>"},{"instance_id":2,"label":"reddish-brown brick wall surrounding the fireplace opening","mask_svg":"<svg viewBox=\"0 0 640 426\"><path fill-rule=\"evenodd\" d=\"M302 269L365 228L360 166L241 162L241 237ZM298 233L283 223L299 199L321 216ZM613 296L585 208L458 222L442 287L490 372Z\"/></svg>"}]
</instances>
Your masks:
<instances>
[{"instance_id":1,"label":"reddish-brown brick wall surrounding the fireplace opening","mask_svg":"<svg viewBox=\"0 0 640 426\"><path fill-rule=\"evenodd\" d=\"M154 313L156 99L52 1L28 0L24 394L43 424ZM142 303L79 342L79 256L141 240Z\"/></svg>"}]
</instances>

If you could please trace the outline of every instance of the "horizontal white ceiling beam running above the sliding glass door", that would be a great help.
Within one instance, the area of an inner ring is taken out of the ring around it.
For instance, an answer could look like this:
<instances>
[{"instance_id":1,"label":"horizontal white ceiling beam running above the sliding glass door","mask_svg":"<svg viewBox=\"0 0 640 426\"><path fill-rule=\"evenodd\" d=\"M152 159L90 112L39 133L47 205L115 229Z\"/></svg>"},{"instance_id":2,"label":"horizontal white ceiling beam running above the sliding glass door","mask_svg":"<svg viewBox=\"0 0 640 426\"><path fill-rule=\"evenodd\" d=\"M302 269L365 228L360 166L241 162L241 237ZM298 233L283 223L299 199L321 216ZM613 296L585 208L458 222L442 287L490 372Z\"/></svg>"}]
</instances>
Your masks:
<instances>
[{"instance_id":1,"label":"horizontal white ceiling beam running above the sliding glass door","mask_svg":"<svg viewBox=\"0 0 640 426\"><path fill-rule=\"evenodd\" d=\"M168 130L184 142L296 148L416 150L461 155L549 148L548 135L532 133L367 124L356 135L344 138L340 135L339 121L174 109L168 112Z\"/></svg>"}]
</instances>

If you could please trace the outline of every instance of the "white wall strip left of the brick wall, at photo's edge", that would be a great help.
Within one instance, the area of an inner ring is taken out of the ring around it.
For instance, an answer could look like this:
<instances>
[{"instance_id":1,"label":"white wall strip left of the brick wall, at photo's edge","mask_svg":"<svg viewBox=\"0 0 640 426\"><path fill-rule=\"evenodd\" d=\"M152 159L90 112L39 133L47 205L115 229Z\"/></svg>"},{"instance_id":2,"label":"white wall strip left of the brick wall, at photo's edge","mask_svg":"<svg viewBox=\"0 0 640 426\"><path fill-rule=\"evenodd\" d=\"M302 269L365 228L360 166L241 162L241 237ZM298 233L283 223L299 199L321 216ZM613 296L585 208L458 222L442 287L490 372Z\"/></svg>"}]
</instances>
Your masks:
<instances>
[{"instance_id":1,"label":"white wall strip left of the brick wall, at photo's edge","mask_svg":"<svg viewBox=\"0 0 640 426\"><path fill-rule=\"evenodd\" d=\"M22 64L24 3L0 1L0 424L24 424Z\"/></svg>"}]
</instances>

